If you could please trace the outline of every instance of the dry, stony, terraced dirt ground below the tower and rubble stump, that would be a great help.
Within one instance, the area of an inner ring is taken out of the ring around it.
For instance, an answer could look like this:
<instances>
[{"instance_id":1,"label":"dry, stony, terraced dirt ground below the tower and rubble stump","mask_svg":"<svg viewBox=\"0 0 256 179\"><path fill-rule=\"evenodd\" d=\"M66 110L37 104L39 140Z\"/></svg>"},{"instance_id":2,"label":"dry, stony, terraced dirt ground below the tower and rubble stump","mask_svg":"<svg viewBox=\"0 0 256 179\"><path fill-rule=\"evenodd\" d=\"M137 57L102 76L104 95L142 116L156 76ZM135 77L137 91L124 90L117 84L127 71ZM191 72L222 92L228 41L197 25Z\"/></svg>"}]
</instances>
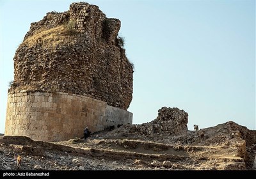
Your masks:
<instances>
[{"instance_id":1,"label":"dry, stony, terraced dirt ground below the tower and rubble stump","mask_svg":"<svg viewBox=\"0 0 256 179\"><path fill-rule=\"evenodd\" d=\"M256 131L229 121L204 128L205 139L129 133L124 125L81 138L50 143L1 136L1 170L252 170ZM17 156L22 157L17 166Z\"/></svg>"}]
</instances>

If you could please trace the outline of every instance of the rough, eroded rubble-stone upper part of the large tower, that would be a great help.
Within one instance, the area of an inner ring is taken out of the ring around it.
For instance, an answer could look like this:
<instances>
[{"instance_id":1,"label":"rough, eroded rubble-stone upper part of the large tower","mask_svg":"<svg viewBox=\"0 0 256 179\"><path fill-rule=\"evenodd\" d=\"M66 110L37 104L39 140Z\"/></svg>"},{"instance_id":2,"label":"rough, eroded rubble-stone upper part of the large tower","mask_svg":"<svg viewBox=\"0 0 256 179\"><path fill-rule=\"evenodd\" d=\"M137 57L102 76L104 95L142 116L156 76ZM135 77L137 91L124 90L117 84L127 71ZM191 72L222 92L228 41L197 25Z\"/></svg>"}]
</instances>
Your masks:
<instances>
[{"instance_id":1,"label":"rough, eroded rubble-stone upper part of the large tower","mask_svg":"<svg viewBox=\"0 0 256 179\"><path fill-rule=\"evenodd\" d=\"M121 22L98 6L72 3L31 23L14 60L10 90L66 92L127 110L133 65L125 56Z\"/></svg>"}]
</instances>

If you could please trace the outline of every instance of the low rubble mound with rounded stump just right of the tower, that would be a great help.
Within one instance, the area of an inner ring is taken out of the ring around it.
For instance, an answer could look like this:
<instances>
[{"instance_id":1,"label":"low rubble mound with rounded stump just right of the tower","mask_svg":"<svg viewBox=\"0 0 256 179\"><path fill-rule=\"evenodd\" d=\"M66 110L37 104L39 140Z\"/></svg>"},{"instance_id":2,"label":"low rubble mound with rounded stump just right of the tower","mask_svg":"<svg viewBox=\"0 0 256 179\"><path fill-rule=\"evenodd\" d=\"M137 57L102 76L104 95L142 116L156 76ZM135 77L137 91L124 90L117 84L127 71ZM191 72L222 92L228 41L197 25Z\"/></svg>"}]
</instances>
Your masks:
<instances>
[{"instance_id":1,"label":"low rubble mound with rounded stump just right of the tower","mask_svg":"<svg viewBox=\"0 0 256 179\"><path fill-rule=\"evenodd\" d=\"M108 132L106 137L149 137L161 139L166 136L182 136L188 131L188 113L177 107L162 107L155 120L141 125L124 125Z\"/></svg>"}]
</instances>

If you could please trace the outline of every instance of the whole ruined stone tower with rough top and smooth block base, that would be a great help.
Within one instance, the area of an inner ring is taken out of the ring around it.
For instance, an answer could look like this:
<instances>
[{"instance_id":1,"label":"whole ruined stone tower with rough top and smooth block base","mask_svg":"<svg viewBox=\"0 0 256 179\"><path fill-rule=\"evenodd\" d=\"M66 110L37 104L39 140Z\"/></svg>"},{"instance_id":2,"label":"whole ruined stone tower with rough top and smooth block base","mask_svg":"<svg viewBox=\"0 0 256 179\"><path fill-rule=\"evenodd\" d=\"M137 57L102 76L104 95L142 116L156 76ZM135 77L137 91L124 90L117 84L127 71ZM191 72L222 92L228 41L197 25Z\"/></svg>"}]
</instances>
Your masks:
<instances>
[{"instance_id":1,"label":"whole ruined stone tower with rough top and smooth block base","mask_svg":"<svg viewBox=\"0 0 256 179\"><path fill-rule=\"evenodd\" d=\"M18 47L8 91L6 136L60 141L132 123L132 63L120 20L72 3L31 27Z\"/></svg>"}]
</instances>

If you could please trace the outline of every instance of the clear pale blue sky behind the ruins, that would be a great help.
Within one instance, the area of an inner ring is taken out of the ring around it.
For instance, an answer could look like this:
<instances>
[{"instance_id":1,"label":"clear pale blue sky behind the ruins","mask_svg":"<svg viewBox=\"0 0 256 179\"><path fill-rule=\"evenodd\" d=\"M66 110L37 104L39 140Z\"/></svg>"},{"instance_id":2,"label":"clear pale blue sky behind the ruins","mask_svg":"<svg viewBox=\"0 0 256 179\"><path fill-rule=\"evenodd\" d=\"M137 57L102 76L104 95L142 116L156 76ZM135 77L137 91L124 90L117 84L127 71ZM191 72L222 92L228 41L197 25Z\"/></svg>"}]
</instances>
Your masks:
<instances>
[{"instance_id":1,"label":"clear pale blue sky behind the ruins","mask_svg":"<svg viewBox=\"0 0 256 179\"><path fill-rule=\"evenodd\" d=\"M13 56L30 23L74 1L1 1L0 133ZM133 123L161 107L189 114L188 128L234 121L255 130L255 1L87 1L120 19L135 66Z\"/></svg>"}]
</instances>

